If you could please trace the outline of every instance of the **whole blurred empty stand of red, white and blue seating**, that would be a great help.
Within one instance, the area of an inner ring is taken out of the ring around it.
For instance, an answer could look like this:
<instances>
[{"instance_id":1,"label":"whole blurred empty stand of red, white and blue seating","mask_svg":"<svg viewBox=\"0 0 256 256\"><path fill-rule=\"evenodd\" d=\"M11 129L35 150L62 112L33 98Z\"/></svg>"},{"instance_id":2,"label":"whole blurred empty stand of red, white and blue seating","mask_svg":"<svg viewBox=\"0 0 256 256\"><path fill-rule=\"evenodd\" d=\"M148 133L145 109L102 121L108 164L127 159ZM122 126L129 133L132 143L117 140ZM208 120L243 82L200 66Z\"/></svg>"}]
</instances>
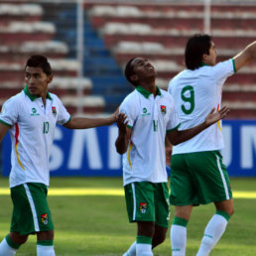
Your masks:
<instances>
[{"instance_id":1,"label":"whole blurred empty stand of red, white and blue seating","mask_svg":"<svg viewBox=\"0 0 256 256\"><path fill-rule=\"evenodd\" d=\"M77 81L74 3L1 1L0 16L0 103L23 88L25 61L41 53L54 68L50 90L60 95L71 113L78 85L84 111L113 111L133 89L123 68L136 56L157 66L157 83L166 89L185 68L188 38L203 29L199 4L84 1L84 77ZM213 4L211 28L218 61L232 58L255 40L256 6ZM223 104L231 107L229 118L256 118L255 86L256 62L227 79Z\"/></svg>"}]
</instances>

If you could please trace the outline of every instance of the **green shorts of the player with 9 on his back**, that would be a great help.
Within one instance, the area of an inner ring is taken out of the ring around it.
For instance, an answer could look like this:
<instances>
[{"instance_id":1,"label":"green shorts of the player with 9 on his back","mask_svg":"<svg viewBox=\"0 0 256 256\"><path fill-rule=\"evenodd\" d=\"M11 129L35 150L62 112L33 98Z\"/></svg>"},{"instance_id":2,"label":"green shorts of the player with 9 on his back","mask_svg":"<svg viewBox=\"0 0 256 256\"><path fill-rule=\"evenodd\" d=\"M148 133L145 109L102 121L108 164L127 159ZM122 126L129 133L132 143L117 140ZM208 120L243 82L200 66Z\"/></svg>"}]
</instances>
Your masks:
<instances>
[{"instance_id":1,"label":"green shorts of the player with 9 on his back","mask_svg":"<svg viewBox=\"0 0 256 256\"><path fill-rule=\"evenodd\" d=\"M172 156L170 178L173 205L198 205L232 198L219 151Z\"/></svg>"}]
</instances>

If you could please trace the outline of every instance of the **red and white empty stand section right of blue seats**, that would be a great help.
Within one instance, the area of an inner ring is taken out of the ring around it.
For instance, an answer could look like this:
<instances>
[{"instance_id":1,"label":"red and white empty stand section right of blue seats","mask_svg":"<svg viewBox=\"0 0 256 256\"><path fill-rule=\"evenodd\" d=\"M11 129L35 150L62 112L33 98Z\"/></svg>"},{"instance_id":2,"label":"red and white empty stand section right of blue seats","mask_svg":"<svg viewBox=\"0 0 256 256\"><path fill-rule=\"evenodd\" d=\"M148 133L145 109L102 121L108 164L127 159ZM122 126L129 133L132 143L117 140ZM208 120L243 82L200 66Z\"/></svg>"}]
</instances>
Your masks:
<instances>
[{"instance_id":1,"label":"red and white empty stand section right of blue seats","mask_svg":"<svg viewBox=\"0 0 256 256\"><path fill-rule=\"evenodd\" d=\"M89 19L104 39L118 64L133 57L145 57L156 65L159 85L167 89L169 80L185 68L184 51L188 39L202 33L201 5L170 4L85 4ZM211 35L218 60L234 57L255 40L256 6L253 4L213 4ZM229 118L256 118L256 62L227 79L223 104L231 108Z\"/></svg>"}]
</instances>

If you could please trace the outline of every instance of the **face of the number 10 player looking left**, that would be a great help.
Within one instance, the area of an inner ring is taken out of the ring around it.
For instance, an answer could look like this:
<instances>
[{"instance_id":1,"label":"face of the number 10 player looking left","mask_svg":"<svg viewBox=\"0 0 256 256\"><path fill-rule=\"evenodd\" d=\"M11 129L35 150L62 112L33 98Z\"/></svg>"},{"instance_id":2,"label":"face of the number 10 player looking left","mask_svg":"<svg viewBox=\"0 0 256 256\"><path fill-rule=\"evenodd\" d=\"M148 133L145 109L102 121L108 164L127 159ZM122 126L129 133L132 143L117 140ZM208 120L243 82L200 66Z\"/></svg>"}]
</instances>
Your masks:
<instances>
[{"instance_id":1,"label":"face of the number 10 player looking left","mask_svg":"<svg viewBox=\"0 0 256 256\"><path fill-rule=\"evenodd\" d=\"M46 96L48 84L52 79L53 75L47 75L41 67L26 66L25 82L31 95Z\"/></svg>"}]
</instances>

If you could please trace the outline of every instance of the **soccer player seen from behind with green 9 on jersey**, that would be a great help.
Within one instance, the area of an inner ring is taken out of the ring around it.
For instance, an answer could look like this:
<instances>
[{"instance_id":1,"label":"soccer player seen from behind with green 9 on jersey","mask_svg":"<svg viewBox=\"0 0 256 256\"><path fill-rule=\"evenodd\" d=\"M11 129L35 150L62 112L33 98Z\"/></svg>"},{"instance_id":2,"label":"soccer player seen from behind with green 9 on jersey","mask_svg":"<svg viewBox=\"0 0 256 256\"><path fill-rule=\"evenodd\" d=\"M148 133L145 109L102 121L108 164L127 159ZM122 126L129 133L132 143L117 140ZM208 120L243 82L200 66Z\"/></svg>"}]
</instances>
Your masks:
<instances>
[{"instance_id":1,"label":"soccer player seen from behind with green 9 on jersey","mask_svg":"<svg viewBox=\"0 0 256 256\"><path fill-rule=\"evenodd\" d=\"M181 130L204 120L211 108L219 109L226 78L256 58L256 42L240 54L216 64L215 45L208 35L194 35L187 43L187 69L169 83L181 120ZM186 255L187 224L192 206L214 202L216 212L209 220L197 256L206 256L223 234L234 212L226 167L222 163L221 123L217 122L191 140L173 148L170 202L175 205L171 227L173 255Z\"/></svg>"}]
</instances>

